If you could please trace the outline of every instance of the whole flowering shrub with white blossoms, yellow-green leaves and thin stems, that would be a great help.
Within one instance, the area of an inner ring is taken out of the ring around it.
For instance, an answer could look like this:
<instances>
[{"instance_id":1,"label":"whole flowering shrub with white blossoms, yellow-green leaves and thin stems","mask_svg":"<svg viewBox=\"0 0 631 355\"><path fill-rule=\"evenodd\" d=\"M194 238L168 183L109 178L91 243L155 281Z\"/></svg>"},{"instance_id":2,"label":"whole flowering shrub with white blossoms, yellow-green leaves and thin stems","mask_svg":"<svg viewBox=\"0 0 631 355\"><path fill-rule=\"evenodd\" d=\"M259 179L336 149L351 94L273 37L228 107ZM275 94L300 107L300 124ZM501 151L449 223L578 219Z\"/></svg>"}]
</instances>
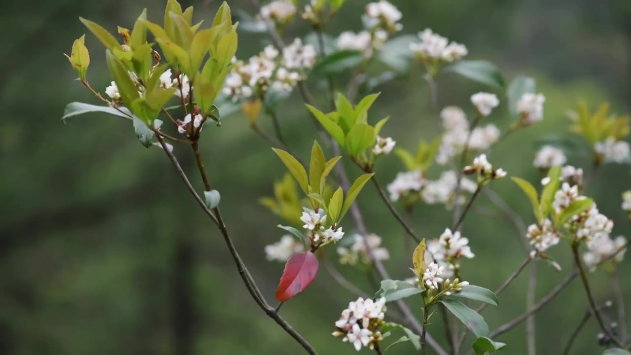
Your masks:
<instances>
[{"instance_id":1,"label":"whole flowering shrub with white blossoms, yellow-green leaves and thin stems","mask_svg":"<svg viewBox=\"0 0 631 355\"><path fill-rule=\"evenodd\" d=\"M580 276L589 314L602 332L599 342L612 348L605 354L629 354L624 350L628 347L625 324L620 324L618 330L605 321L587 279L587 272L598 268L615 274L616 265L624 258L627 239L612 236L613 221L599 212L594 200L583 195L598 167L630 162L630 147L624 141L630 131L627 117L611 115L608 105L601 105L592 113L582 102L576 111L570 111L570 129L586 140L591 161L584 167L566 165L562 148L541 147L532 163L533 169L545 176L540 183L533 185L510 176L532 205L532 215L519 216L492 192L492 184L507 178L509 172L494 166L489 157L506 136L544 118L546 99L536 92L532 78L517 77L505 85L502 73L493 64L464 60L469 50L463 44L450 42L430 29L423 30L418 37L398 35L403 28L399 23L403 14L385 0L366 6L361 16L364 30L339 33L337 39L327 37L324 28L344 0L313 0L304 6L289 0L271 1L263 6L256 0L252 3L259 9L256 16L244 16L244 21L233 23L228 4L223 3L210 27L203 28L203 23L192 20L192 8L183 10L176 0L168 0L163 25L148 20L143 11L132 30L118 28L122 42L97 23L82 18L107 49L105 59L112 81L109 85L100 84L105 96L90 85L90 54L85 36L76 40L68 59L80 83L101 105L73 102L66 108L64 119L87 112L107 112L129 119L145 147L162 148L192 196L223 235L252 298L309 354L316 354L316 350L280 315L280 306L307 289L322 262L336 282L357 294L358 298L341 312L339 320L331 320L330 329L335 337L350 343L357 351L367 348L382 354L394 344L409 343L423 354L458 354L464 351L468 332L475 335L471 347L476 354L510 349L510 344L495 341L497 337L531 319L560 288ZM312 28L314 33L310 38L317 39L317 44L300 38L285 44L283 29L298 17ZM269 33L273 45L247 59L235 57L239 35L262 31ZM148 35L157 45L150 42ZM330 45L327 47L326 43ZM379 68L385 65L391 71L375 73L372 65L377 62ZM443 107L439 115L442 134L430 142L421 141L416 152L411 153L393 138L381 135L389 117L375 120L371 108L378 104L379 93L375 88L415 63L425 69L435 105L438 105L435 80L445 73L479 81L496 93L473 93L463 107ZM398 73L391 75L392 72ZM333 76L339 73L351 75L345 83L345 94L333 86ZM326 79L331 107L314 104L307 87L309 78ZM319 132L307 161L300 160L300 154L286 145L278 118L278 107L294 90L304 99ZM497 94L503 92L505 100ZM514 116L512 124L502 130L495 124L483 123L502 104L508 105ZM278 306L271 306L235 249L221 217L220 192L211 188L211 178L199 150L202 133L220 134L203 130L204 126L208 123L220 126L221 118L237 109L249 118L252 131L271 143L273 153L288 171L282 180L274 183L274 196L260 200L282 223L278 226L283 229L280 241L270 241L264 249L268 260L285 263L275 295L280 301ZM257 125L261 112L271 117L274 135ZM174 145L192 148L204 184L203 194L198 193L180 167L175 157L179 148L176 151ZM404 170L387 184L386 192L379 183L376 162L393 159L393 155L401 159ZM339 161L343 157L354 162L363 174L351 179ZM437 174L430 172L432 166L439 169ZM584 171L591 175L584 176ZM355 203L369 182L406 231L404 238L411 238L418 245L410 251L408 264L413 274L405 280L389 276L383 264L390 258L389 251L382 246L382 239L367 229ZM487 194L509 218L517 215L516 230L528 248L524 262L495 292L466 281L473 279L471 275L475 273L468 268L468 260L475 258L473 251L483 246L465 238L461 229L465 217L475 213L475 201L481 194ZM418 205L443 205L453 215L453 224L445 226L437 238L420 238L398 211L401 207L409 213ZM623 193L622 210L631 216L630 191ZM525 227L525 222L531 224ZM534 265L543 260L558 272L568 268L553 259L560 248L572 251L575 263L575 271L570 272L564 284L540 303L535 304L534 300L529 303L524 316L490 330L480 315L481 310L487 304L497 307L498 294L529 263ZM327 261L334 253L345 268L376 272L379 289L366 294L351 284ZM376 293L371 298L373 292ZM407 302L414 300L422 302L420 310L408 306ZM474 302L483 304L474 310L471 308ZM622 308L623 304L617 306ZM438 316L437 310L447 324L448 335L441 342L436 340L436 334L430 335L433 332L430 318ZM454 317L463 323L462 327L451 323ZM456 334L459 329L461 335ZM400 333L398 340L392 340L395 332ZM447 344L449 352L441 344ZM570 340L566 354L571 345ZM327 349L320 351L330 353Z\"/></svg>"}]
</instances>

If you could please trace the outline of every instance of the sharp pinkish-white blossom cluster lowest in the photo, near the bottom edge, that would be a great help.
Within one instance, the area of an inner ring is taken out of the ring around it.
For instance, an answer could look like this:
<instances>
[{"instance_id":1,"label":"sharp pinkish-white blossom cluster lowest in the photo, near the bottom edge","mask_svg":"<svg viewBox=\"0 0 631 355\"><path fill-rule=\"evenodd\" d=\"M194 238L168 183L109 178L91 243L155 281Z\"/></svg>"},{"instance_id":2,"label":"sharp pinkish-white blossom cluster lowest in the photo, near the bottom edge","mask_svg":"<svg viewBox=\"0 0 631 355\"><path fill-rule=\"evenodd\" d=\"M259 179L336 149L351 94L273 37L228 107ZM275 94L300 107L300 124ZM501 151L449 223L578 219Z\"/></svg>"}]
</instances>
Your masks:
<instances>
[{"instance_id":1,"label":"sharp pinkish-white blossom cluster lowest in the photo, near the bottom edge","mask_svg":"<svg viewBox=\"0 0 631 355\"><path fill-rule=\"evenodd\" d=\"M383 339L379 328L384 323L385 311L385 298L377 301L358 298L342 311L339 320L335 322L337 330L333 335L341 337L343 342L353 344L357 351L360 351L362 346L374 349Z\"/></svg>"}]
</instances>

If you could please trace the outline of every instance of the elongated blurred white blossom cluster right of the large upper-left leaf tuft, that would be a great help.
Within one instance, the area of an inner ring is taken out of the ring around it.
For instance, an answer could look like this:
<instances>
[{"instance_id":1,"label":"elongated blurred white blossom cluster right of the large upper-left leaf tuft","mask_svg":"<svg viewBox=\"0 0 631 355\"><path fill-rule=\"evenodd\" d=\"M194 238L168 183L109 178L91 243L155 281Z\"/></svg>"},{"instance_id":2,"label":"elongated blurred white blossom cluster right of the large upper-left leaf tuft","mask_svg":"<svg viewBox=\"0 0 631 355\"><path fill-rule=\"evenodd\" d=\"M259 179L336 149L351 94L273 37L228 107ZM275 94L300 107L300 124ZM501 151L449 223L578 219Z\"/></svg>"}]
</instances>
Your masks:
<instances>
[{"instance_id":1,"label":"elongated blurred white blossom cluster right of the large upper-left leaf tuft","mask_svg":"<svg viewBox=\"0 0 631 355\"><path fill-rule=\"evenodd\" d=\"M281 55L273 45L268 45L247 63L236 61L226 78L223 93L238 101L253 95L262 97L270 88L290 92L304 79L303 72L313 68L315 58L314 47L303 45L300 39L283 48Z\"/></svg>"}]
</instances>

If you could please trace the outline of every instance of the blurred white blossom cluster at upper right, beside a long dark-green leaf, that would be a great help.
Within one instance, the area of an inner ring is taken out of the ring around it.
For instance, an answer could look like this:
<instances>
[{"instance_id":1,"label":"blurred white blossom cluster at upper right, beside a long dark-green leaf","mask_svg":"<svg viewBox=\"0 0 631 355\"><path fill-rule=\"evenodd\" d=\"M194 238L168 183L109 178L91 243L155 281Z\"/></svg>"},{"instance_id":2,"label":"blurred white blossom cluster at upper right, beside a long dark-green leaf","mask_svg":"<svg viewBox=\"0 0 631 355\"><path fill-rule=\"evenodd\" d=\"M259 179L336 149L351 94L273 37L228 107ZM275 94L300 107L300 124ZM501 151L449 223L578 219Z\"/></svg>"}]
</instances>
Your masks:
<instances>
[{"instance_id":1,"label":"blurred white blossom cluster at upper right, beside a long dark-green leaf","mask_svg":"<svg viewBox=\"0 0 631 355\"><path fill-rule=\"evenodd\" d=\"M449 43L449 40L438 33L426 28L418 33L420 43L411 43L410 50L422 62L444 61L451 63L461 59L468 54L467 47L456 42Z\"/></svg>"}]
</instances>

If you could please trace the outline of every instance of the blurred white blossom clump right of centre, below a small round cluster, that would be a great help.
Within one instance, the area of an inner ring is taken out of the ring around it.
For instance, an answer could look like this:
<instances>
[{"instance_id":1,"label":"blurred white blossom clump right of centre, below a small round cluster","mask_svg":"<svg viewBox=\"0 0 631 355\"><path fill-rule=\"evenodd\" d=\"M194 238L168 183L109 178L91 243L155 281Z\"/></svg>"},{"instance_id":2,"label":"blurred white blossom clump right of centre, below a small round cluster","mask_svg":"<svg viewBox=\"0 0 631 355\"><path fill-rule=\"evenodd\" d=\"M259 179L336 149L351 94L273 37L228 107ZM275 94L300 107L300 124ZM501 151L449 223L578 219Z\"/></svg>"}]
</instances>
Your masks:
<instances>
[{"instance_id":1,"label":"blurred white blossom clump right of centre, below a small round cluster","mask_svg":"<svg viewBox=\"0 0 631 355\"><path fill-rule=\"evenodd\" d=\"M490 148L500 138L500 130L495 124L476 127L469 131L469 121L464 111L456 106L445 107L440 111L445 133L440 140L436 162L440 165L449 163L463 152L469 140L469 150L481 151Z\"/></svg>"}]
</instances>

